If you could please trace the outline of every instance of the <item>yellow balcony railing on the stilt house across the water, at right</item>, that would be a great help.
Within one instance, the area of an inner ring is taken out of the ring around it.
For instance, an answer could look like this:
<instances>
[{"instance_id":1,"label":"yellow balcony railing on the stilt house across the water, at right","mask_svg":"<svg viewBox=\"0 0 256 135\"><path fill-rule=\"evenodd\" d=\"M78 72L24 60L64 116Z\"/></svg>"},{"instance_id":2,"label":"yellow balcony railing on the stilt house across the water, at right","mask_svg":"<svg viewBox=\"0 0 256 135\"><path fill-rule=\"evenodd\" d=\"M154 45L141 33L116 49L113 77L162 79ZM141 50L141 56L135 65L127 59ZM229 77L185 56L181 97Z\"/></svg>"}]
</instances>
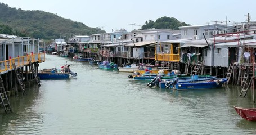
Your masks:
<instances>
[{"instance_id":1,"label":"yellow balcony railing on the stilt house across the water, at right","mask_svg":"<svg viewBox=\"0 0 256 135\"><path fill-rule=\"evenodd\" d=\"M179 61L179 54L155 54L156 61Z\"/></svg>"}]
</instances>

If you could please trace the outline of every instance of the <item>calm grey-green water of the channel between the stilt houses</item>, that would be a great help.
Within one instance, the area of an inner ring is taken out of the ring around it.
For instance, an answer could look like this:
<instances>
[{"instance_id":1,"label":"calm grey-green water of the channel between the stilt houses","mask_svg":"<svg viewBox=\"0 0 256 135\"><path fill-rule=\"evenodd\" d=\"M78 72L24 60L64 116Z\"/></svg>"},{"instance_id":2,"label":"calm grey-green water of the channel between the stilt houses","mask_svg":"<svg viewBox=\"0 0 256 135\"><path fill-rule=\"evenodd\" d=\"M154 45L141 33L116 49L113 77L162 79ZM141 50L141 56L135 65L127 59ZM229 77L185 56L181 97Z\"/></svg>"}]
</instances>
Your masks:
<instances>
[{"instance_id":1,"label":"calm grey-green water of the channel between the stilt houses","mask_svg":"<svg viewBox=\"0 0 256 135\"><path fill-rule=\"evenodd\" d=\"M68 61L78 73L68 80L41 80L11 97L14 113L0 111L0 134L256 134L256 122L233 106L255 107L237 86L196 91L148 88L130 73L46 55L39 69Z\"/></svg>"}]
</instances>

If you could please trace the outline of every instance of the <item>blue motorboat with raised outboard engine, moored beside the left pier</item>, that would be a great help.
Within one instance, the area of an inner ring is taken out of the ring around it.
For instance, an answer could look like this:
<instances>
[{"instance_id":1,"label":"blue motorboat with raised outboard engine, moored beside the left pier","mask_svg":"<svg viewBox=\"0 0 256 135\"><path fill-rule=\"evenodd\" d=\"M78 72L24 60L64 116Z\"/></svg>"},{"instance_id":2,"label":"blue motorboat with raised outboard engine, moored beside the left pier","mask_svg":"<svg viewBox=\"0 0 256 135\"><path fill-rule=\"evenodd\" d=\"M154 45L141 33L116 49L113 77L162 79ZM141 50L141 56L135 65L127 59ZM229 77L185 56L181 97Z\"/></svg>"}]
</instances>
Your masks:
<instances>
[{"instance_id":1,"label":"blue motorboat with raised outboard engine, moored beside the left pier","mask_svg":"<svg viewBox=\"0 0 256 135\"><path fill-rule=\"evenodd\" d=\"M77 76L77 73L74 73L69 68L70 65L64 65L61 69L43 69L38 71L38 77L40 79L66 79L70 77L70 74L73 77Z\"/></svg>"}]
</instances>

